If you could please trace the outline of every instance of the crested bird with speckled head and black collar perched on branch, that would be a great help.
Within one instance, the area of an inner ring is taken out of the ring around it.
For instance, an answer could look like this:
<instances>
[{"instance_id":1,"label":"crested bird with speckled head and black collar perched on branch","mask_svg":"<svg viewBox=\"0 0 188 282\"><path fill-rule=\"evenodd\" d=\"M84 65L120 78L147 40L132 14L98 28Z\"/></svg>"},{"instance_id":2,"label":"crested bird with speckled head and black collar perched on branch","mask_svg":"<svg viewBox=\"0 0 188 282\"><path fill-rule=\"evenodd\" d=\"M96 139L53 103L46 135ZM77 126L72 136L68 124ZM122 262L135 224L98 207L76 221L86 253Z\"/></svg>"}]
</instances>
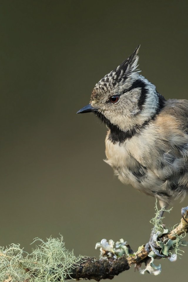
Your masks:
<instances>
[{"instance_id":1,"label":"crested bird with speckled head and black collar perched on branch","mask_svg":"<svg viewBox=\"0 0 188 282\"><path fill-rule=\"evenodd\" d=\"M155 197L162 216L188 193L188 100L166 100L140 74L139 48L95 85L77 113L94 113L106 125L105 162L122 183Z\"/></svg>"}]
</instances>

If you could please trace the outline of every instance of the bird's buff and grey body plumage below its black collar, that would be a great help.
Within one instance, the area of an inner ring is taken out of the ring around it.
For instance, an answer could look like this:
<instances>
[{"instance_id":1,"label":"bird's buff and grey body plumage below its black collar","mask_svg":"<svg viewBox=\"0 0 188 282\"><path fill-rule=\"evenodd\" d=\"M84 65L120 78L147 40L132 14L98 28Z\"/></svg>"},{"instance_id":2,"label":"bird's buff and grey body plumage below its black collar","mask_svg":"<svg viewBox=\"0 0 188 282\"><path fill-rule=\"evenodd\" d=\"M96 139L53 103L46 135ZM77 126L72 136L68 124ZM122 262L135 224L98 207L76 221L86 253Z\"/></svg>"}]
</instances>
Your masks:
<instances>
[{"instance_id":1,"label":"bird's buff and grey body plumage below its black collar","mask_svg":"<svg viewBox=\"0 0 188 282\"><path fill-rule=\"evenodd\" d=\"M188 189L187 100L168 100L142 132L123 144L113 144L108 135L109 132L105 141L107 162L122 182L148 194L159 193L159 198L185 195Z\"/></svg>"}]
</instances>

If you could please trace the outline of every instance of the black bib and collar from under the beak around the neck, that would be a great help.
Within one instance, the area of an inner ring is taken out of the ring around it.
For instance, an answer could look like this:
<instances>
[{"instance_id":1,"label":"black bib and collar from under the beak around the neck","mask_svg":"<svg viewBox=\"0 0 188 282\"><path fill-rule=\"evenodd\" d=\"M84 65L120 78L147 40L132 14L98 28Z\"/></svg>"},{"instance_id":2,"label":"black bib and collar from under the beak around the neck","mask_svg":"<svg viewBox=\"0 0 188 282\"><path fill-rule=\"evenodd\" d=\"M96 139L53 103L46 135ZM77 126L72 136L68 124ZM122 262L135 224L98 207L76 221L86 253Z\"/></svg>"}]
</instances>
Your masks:
<instances>
[{"instance_id":1,"label":"black bib and collar from under the beak around the neck","mask_svg":"<svg viewBox=\"0 0 188 282\"><path fill-rule=\"evenodd\" d=\"M131 139L133 136L139 135L142 130L146 127L146 125L148 125L152 120L155 120L157 115L164 107L164 97L158 93L157 96L159 97L159 100L155 114L152 115L148 120L146 120L142 125L135 125L133 128L127 131L123 131L119 127L117 127L117 125L111 123L110 120L108 120L108 118L106 118L102 113L95 112L95 114L100 118L100 120L104 122L105 125L110 129L110 135L108 139L111 140L113 144L115 144L116 142L123 143L125 140Z\"/></svg>"}]
</instances>

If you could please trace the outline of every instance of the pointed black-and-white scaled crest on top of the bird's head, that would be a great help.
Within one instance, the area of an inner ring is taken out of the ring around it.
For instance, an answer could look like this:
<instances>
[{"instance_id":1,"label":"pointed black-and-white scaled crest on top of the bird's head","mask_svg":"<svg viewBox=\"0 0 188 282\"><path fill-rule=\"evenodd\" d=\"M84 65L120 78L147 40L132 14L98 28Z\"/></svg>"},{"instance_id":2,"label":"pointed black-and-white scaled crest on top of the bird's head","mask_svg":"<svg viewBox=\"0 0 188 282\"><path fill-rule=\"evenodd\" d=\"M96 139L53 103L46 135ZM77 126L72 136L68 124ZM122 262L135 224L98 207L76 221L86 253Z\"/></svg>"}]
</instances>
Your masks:
<instances>
[{"instance_id":1,"label":"pointed black-and-white scaled crest on top of the bird's head","mask_svg":"<svg viewBox=\"0 0 188 282\"><path fill-rule=\"evenodd\" d=\"M126 78L133 72L138 72L138 51L140 45L135 49L131 56L123 61L115 70L105 75L96 85L95 89L115 87L125 82Z\"/></svg>"}]
</instances>

